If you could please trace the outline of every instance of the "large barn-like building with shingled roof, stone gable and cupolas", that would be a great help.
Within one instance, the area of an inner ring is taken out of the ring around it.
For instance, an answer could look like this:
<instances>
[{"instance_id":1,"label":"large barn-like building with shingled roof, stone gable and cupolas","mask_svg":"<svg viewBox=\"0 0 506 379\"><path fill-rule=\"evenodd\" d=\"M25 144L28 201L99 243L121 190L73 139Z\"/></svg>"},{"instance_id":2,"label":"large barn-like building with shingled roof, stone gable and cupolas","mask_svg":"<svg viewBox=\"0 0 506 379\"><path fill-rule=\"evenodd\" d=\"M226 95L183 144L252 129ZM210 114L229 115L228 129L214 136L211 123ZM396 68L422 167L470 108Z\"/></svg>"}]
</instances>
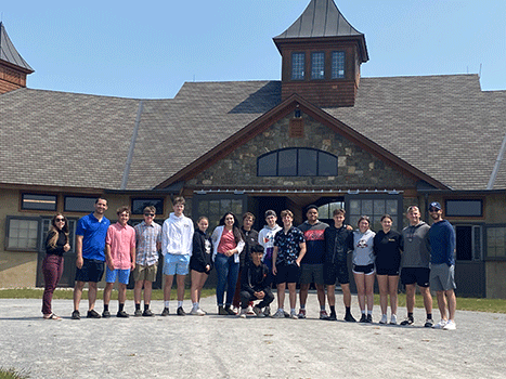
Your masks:
<instances>
[{"instance_id":1,"label":"large barn-like building with shingled roof, stone gable and cupolas","mask_svg":"<svg viewBox=\"0 0 506 379\"><path fill-rule=\"evenodd\" d=\"M401 228L410 205L428 220L438 200L456 228L457 293L506 297L506 91L477 75L361 78L365 36L333 0L274 37L280 81L190 82L168 100L31 90L1 36L1 73L16 75L0 77L0 287L38 282L56 210L75 225L101 195L111 219L122 204L165 218L182 194L211 225L271 208L301 222L316 204L321 219L343 206L376 230L385 212Z\"/></svg>"}]
</instances>

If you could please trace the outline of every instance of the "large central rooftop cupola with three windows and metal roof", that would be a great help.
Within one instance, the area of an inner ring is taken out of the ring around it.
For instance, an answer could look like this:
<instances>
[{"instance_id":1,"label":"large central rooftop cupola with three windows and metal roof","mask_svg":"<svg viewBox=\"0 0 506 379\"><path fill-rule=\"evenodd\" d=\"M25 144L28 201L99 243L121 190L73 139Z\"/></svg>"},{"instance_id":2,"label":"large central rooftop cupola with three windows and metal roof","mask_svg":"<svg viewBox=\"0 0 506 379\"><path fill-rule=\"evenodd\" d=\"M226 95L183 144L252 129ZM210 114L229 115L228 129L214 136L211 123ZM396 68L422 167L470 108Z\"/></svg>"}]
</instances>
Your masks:
<instances>
[{"instance_id":1,"label":"large central rooftop cupola with three windows and metal roof","mask_svg":"<svg viewBox=\"0 0 506 379\"><path fill-rule=\"evenodd\" d=\"M273 40L283 60L282 100L297 93L320 107L354 105L367 47L334 0L311 0Z\"/></svg>"}]
</instances>

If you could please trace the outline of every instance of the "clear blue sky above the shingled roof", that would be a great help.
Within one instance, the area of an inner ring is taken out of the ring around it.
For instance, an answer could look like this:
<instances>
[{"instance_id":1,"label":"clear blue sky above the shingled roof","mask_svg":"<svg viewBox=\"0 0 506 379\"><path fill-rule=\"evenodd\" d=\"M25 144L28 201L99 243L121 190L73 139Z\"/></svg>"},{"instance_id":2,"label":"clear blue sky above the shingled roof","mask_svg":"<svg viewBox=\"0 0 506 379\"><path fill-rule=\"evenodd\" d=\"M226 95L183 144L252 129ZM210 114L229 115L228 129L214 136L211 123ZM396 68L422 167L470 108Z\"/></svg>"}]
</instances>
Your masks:
<instances>
[{"instance_id":1,"label":"clear blue sky above the shingled roof","mask_svg":"<svg viewBox=\"0 0 506 379\"><path fill-rule=\"evenodd\" d=\"M280 80L272 38L310 0L2 1L34 89L173 97L185 81ZM506 90L505 0L335 0L365 34L363 77L479 74Z\"/></svg>"}]
</instances>

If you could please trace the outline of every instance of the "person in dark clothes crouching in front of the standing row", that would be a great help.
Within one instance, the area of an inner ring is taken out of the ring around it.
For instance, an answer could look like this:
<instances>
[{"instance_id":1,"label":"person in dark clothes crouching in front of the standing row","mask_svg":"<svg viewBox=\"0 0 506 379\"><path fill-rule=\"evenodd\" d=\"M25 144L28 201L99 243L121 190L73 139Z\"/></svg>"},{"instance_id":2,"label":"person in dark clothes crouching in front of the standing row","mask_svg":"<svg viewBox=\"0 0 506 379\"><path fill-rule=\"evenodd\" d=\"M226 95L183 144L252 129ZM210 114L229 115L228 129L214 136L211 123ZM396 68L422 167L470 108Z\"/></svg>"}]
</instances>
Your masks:
<instances>
[{"instance_id":1,"label":"person in dark clothes crouching in front of the standing row","mask_svg":"<svg viewBox=\"0 0 506 379\"><path fill-rule=\"evenodd\" d=\"M274 301L269 282L269 267L262 262L263 247L257 244L250 251L250 259L246 262L241 278L239 317L242 318L246 318L249 302L261 300L252 311L258 317L263 317L262 310Z\"/></svg>"}]
</instances>

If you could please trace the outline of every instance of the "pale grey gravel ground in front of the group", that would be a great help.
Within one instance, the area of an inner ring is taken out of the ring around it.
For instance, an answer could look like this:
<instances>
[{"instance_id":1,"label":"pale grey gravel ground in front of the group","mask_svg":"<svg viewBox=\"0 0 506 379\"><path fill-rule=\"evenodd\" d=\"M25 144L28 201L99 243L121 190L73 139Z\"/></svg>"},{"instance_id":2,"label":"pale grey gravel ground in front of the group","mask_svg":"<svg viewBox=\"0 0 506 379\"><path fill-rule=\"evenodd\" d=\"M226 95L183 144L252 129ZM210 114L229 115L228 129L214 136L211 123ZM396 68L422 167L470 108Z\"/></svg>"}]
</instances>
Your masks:
<instances>
[{"instance_id":1,"label":"pale grey gravel ground in front of the group","mask_svg":"<svg viewBox=\"0 0 506 379\"><path fill-rule=\"evenodd\" d=\"M207 316L73 321L72 301L55 300L55 322L42 319L40 300L0 300L0 366L30 378L506 377L505 314L457 312L457 330L443 331L421 327L423 310L400 327L324 322L314 293L308 304L308 319L218 316L207 298ZM163 302L152 308L159 314Z\"/></svg>"}]
</instances>

